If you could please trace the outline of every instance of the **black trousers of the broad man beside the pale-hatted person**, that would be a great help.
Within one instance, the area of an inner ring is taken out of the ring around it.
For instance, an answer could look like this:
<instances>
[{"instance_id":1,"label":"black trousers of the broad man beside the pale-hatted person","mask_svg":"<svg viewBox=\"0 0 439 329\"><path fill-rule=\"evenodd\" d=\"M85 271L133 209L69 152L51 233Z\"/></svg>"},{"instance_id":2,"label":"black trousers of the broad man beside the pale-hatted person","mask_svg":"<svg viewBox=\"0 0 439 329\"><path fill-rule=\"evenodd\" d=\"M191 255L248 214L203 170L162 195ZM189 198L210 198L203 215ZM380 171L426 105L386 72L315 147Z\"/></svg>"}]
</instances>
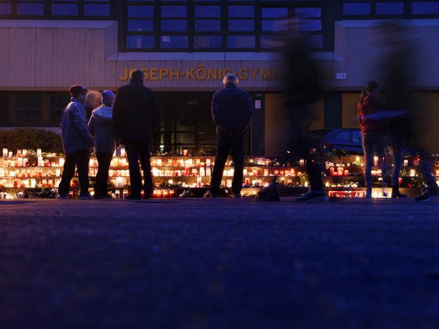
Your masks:
<instances>
[{"instance_id":1,"label":"black trousers of the broad man beside the pale-hatted person","mask_svg":"<svg viewBox=\"0 0 439 329\"><path fill-rule=\"evenodd\" d=\"M142 174L140 173L140 166L142 166L144 175L144 194L145 196L152 195L153 185L151 163L149 162L149 158L151 157L149 155L149 144L125 144L125 151L127 152L128 166L130 169L131 194L139 196L142 192Z\"/></svg>"}]
</instances>

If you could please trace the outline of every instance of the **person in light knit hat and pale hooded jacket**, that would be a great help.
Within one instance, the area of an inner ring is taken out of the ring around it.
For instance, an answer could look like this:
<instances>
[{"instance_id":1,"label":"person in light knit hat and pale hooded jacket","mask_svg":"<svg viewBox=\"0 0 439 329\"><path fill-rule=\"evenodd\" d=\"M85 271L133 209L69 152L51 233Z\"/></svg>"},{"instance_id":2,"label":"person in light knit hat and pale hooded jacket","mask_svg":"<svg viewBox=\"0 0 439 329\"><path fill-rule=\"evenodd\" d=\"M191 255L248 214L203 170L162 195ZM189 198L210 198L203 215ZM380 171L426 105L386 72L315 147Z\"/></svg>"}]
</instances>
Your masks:
<instances>
[{"instance_id":1,"label":"person in light knit hat and pale hooded jacket","mask_svg":"<svg viewBox=\"0 0 439 329\"><path fill-rule=\"evenodd\" d=\"M114 93L103 91L102 105L91 112L89 132L96 143L96 158L98 159L98 173L94 185L93 199L111 198L108 195L108 169L116 148L115 130L113 126Z\"/></svg>"}]
</instances>

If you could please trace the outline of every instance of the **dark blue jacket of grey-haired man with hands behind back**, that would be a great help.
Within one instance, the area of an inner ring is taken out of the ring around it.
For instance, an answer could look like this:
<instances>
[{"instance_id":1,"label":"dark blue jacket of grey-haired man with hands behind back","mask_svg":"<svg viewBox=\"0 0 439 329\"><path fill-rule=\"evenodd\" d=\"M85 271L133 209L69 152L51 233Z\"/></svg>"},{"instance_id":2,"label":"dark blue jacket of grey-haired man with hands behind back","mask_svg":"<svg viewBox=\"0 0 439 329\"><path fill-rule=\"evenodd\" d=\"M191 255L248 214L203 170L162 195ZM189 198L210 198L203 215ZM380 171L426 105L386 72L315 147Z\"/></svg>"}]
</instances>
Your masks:
<instances>
[{"instance_id":1,"label":"dark blue jacket of grey-haired man with hands behind back","mask_svg":"<svg viewBox=\"0 0 439 329\"><path fill-rule=\"evenodd\" d=\"M223 89L215 91L212 97L212 119L218 130L226 131L230 127L244 133L253 117L253 105L249 93L227 83Z\"/></svg>"}]
</instances>

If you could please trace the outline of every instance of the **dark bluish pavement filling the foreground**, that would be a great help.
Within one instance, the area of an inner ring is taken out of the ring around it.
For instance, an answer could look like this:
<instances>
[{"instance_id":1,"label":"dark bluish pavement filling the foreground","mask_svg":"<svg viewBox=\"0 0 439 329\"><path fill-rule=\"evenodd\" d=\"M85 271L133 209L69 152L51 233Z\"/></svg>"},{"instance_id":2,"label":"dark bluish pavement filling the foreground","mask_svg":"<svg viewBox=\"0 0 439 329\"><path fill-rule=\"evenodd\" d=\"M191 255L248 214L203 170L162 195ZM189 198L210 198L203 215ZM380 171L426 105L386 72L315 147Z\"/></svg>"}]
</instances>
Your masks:
<instances>
[{"instance_id":1,"label":"dark bluish pavement filling the foreground","mask_svg":"<svg viewBox=\"0 0 439 329\"><path fill-rule=\"evenodd\" d=\"M439 328L439 198L1 200L0 328Z\"/></svg>"}]
</instances>

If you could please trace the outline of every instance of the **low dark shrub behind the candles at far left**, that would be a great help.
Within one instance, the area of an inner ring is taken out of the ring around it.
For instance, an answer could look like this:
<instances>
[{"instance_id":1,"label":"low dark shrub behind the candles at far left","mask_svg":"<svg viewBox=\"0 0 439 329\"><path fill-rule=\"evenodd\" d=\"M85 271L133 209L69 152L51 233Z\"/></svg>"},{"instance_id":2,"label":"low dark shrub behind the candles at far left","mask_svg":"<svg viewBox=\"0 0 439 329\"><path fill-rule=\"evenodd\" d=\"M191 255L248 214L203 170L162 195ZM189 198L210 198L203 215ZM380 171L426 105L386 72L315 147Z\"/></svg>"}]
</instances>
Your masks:
<instances>
[{"instance_id":1,"label":"low dark shrub behind the candles at far left","mask_svg":"<svg viewBox=\"0 0 439 329\"><path fill-rule=\"evenodd\" d=\"M18 149L41 149L47 153L62 153L61 136L56 132L38 128L0 130L0 149L16 154Z\"/></svg>"}]
</instances>

